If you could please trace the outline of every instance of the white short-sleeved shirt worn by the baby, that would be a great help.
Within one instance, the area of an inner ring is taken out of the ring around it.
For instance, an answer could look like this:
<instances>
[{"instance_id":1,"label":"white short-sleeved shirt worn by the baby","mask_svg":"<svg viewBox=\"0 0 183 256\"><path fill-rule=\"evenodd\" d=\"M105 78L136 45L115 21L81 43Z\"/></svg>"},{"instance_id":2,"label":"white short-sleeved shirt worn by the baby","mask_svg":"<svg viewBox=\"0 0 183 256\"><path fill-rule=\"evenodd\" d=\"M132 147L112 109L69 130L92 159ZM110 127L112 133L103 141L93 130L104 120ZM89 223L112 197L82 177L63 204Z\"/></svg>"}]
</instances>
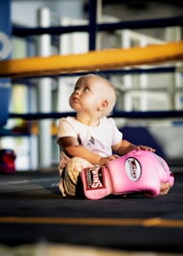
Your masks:
<instances>
[{"instance_id":1,"label":"white short-sleeved shirt worn by the baby","mask_svg":"<svg viewBox=\"0 0 183 256\"><path fill-rule=\"evenodd\" d=\"M123 134L110 117L103 117L98 126L87 126L75 117L68 116L61 118L59 122L57 139L62 137L75 137L79 144L102 157L107 157L112 154L111 146L118 144Z\"/></svg>"}]
</instances>

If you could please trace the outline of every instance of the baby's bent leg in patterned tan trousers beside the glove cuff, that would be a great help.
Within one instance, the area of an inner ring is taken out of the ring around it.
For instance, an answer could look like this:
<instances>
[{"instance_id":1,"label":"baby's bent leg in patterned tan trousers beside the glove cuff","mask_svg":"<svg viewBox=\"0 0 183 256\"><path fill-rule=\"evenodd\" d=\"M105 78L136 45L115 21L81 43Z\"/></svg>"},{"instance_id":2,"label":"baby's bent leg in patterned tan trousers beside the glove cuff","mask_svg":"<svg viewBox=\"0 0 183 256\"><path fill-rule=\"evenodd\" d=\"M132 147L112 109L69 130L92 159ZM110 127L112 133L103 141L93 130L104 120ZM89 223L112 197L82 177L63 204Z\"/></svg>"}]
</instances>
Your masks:
<instances>
[{"instance_id":1,"label":"baby's bent leg in patterned tan trousers beside the glove cuff","mask_svg":"<svg viewBox=\"0 0 183 256\"><path fill-rule=\"evenodd\" d=\"M73 157L66 166L62 179L59 182L59 188L63 196L76 196L76 185L78 176L83 168L93 165L80 157Z\"/></svg>"}]
</instances>

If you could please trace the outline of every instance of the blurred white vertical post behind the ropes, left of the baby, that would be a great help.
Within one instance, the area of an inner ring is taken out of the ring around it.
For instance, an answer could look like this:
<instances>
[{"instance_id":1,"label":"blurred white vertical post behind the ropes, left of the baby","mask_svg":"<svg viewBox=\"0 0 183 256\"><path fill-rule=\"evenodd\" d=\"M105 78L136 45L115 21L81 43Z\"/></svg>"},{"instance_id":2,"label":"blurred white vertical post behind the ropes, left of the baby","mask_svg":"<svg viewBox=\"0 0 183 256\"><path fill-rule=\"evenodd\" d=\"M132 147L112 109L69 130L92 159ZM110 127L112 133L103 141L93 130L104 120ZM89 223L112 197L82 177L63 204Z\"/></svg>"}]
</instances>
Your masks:
<instances>
[{"instance_id":1,"label":"blurred white vertical post behind the ropes, left of the baby","mask_svg":"<svg viewBox=\"0 0 183 256\"><path fill-rule=\"evenodd\" d=\"M41 27L50 26L49 10L44 8L38 12L38 23ZM44 34L38 40L38 54L50 55L50 35ZM39 112L51 112L51 79L42 78L38 81L38 109ZM38 165L39 168L47 168L51 165L51 121L50 119L39 120L38 135Z\"/></svg>"}]
</instances>

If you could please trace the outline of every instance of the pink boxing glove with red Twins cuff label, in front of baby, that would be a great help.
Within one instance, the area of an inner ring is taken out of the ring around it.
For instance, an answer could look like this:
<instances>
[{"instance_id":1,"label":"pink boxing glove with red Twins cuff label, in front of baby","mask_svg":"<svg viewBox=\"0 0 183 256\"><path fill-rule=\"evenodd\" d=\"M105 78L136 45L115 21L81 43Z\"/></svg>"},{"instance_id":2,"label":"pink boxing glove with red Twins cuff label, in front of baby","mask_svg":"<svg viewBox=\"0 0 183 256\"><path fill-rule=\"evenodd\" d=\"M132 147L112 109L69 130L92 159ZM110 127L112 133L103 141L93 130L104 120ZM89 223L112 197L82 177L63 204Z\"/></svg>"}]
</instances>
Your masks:
<instances>
[{"instance_id":1,"label":"pink boxing glove with red Twins cuff label, in front of baby","mask_svg":"<svg viewBox=\"0 0 183 256\"><path fill-rule=\"evenodd\" d=\"M102 199L107 195L135 192L145 197L156 197L161 182L174 183L167 162L157 154L133 150L127 155L109 161L107 167L86 168L81 172L85 197Z\"/></svg>"}]
</instances>

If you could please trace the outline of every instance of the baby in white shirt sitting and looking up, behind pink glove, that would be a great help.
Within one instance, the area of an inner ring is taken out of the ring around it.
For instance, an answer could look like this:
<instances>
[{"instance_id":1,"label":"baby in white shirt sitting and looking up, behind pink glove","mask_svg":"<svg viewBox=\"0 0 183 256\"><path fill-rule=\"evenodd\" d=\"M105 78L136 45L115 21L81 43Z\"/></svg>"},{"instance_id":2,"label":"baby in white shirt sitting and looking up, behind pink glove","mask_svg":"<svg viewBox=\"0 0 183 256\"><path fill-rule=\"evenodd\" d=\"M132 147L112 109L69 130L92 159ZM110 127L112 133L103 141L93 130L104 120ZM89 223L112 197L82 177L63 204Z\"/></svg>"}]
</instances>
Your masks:
<instances>
[{"instance_id":1,"label":"baby in white shirt sitting and looking up, behind pink glove","mask_svg":"<svg viewBox=\"0 0 183 256\"><path fill-rule=\"evenodd\" d=\"M59 189L63 196L77 196L82 191L80 171L95 165L105 166L108 161L131 150L155 149L132 144L123 139L114 120L107 117L116 102L114 86L105 78L89 74L76 80L69 103L76 117L61 118L57 144L60 146ZM170 184L161 184L160 195L168 193Z\"/></svg>"}]
</instances>

